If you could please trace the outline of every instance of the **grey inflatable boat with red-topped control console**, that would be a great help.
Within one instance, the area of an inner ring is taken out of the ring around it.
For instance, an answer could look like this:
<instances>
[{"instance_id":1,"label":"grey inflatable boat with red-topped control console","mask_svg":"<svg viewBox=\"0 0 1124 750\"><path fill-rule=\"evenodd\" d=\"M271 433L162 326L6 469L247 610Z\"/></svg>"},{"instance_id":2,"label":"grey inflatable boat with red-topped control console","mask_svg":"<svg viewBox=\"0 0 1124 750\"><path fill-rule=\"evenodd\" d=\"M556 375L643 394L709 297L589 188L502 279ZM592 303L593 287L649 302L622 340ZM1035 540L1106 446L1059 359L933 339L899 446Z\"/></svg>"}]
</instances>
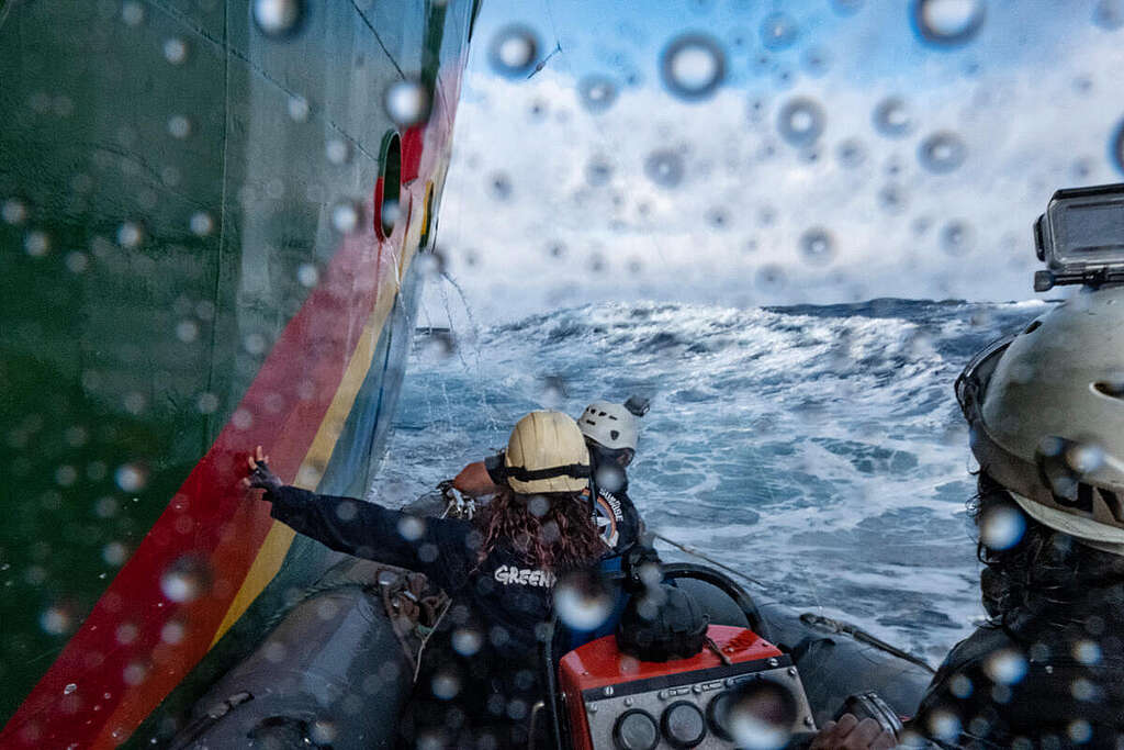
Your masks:
<instances>
[{"instance_id":1,"label":"grey inflatable boat with red-topped control console","mask_svg":"<svg viewBox=\"0 0 1124 750\"><path fill-rule=\"evenodd\" d=\"M861 631L756 602L717 567L673 562L662 573L700 605L710 647L659 662L622 652L614 635L565 653L544 648L552 701L531 721L550 726L555 748L746 747L738 735L754 728L738 728L731 706L750 688L780 696L770 704L780 725L767 728L760 747L783 747L853 696L874 694L868 699L888 710L888 721L906 717L932 677L918 659ZM342 559L192 707L171 747L393 747L443 604L417 573Z\"/></svg>"}]
</instances>

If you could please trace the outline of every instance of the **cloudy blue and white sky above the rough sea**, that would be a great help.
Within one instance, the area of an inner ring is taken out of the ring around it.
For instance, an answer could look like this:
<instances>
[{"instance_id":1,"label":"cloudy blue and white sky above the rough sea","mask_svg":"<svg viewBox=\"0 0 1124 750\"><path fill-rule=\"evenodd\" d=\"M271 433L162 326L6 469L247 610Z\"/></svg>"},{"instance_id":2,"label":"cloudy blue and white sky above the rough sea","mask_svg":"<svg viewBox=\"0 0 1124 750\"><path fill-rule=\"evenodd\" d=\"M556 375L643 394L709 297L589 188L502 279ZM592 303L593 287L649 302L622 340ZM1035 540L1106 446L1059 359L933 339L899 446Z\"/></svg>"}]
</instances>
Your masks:
<instances>
[{"instance_id":1,"label":"cloudy blue and white sky above the rough sea","mask_svg":"<svg viewBox=\"0 0 1124 750\"><path fill-rule=\"evenodd\" d=\"M1052 191L1122 179L1124 0L636 7L484 3L423 324L1027 299Z\"/></svg>"}]
</instances>

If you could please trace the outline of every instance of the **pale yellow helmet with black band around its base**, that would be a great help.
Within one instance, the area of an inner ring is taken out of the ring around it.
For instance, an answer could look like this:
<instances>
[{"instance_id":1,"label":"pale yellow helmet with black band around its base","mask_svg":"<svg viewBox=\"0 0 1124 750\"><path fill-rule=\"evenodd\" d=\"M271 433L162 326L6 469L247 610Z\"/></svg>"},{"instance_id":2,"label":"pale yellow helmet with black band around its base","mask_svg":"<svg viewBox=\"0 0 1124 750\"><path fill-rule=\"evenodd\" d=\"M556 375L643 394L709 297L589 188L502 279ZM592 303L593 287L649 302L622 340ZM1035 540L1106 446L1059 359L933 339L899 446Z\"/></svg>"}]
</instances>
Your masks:
<instances>
[{"instance_id":1,"label":"pale yellow helmet with black band around its base","mask_svg":"<svg viewBox=\"0 0 1124 750\"><path fill-rule=\"evenodd\" d=\"M516 493L578 493L589 486L589 449L578 423L561 412L532 412L519 419L504 457Z\"/></svg>"}]
</instances>

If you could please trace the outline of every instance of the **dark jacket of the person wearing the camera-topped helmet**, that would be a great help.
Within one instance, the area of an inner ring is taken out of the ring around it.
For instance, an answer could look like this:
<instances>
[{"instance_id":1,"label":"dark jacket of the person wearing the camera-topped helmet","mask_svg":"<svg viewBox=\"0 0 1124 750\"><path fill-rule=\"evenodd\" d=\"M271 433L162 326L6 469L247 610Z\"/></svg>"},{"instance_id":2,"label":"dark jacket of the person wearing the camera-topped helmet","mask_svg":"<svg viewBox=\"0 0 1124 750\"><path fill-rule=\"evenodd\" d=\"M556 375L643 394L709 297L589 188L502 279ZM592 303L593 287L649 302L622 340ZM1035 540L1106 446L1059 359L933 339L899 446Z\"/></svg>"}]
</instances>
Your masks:
<instances>
[{"instance_id":1,"label":"dark jacket of the person wearing the camera-topped helmet","mask_svg":"<svg viewBox=\"0 0 1124 750\"><path fill-rule=\"evenodd\" d=\"M1124 588L1112 587L980 627L945 659L912 728L953 748L1121 747L1122 615Z\"/></svg>"}]
</instances>

